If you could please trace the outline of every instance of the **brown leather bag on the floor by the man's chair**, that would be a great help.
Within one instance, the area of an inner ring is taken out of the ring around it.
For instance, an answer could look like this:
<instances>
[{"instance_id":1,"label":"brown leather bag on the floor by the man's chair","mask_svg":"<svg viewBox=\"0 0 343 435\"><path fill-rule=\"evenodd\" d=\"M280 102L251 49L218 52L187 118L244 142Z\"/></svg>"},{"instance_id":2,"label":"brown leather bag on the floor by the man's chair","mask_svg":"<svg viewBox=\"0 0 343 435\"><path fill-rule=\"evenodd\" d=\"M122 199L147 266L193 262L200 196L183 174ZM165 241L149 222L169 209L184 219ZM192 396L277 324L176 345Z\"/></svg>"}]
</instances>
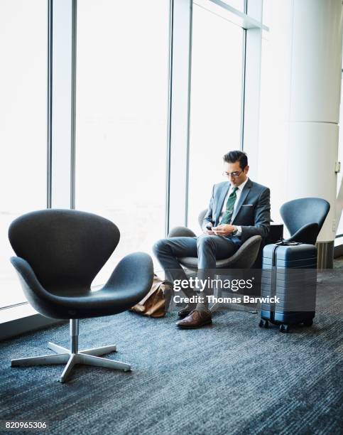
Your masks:
<instances>
[{"instance_id":1,"label":"brown leather bag on the floor by the man's chair","mask_svg":"<svg viewBox=\"0 0 343 435\"><path fill-rule=\"evenodd\" d=\"M171 297L170 286L165 284L165 281L158 278L156 274L153 275L153 285L148 294L138 302L135 306L130 308L137 314L148 317L164 317L168 311L168 306Z\"/></svg>"}]
</instances>

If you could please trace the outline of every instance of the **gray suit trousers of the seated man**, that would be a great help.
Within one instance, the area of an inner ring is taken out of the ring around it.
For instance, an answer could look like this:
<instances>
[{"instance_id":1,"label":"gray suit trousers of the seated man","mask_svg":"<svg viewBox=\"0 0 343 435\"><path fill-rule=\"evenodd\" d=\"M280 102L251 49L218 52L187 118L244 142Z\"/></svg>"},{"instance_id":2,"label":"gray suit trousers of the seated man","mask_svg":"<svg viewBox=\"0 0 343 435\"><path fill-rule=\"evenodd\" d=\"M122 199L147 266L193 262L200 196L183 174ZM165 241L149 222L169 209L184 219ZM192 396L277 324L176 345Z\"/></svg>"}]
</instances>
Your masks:
<instances>
[{"instance_id":1,"label":"gray suit trousers of the seated man","mask_svg":"<svg viewBox=\"0 0 343 435\"><path fill-rule=\"evenodd\" d=\"M227 237L202 234L198 237L170 237L161 239L153 246L153 252L165 272L165 279L187 279L178 257L197 257L198 278L212 279L216 260L231 257L239 245ZM212 289L205 288L205 294ZM186 296L193 296L192 289L183 288Z\"/></svg>"}]
</instances>

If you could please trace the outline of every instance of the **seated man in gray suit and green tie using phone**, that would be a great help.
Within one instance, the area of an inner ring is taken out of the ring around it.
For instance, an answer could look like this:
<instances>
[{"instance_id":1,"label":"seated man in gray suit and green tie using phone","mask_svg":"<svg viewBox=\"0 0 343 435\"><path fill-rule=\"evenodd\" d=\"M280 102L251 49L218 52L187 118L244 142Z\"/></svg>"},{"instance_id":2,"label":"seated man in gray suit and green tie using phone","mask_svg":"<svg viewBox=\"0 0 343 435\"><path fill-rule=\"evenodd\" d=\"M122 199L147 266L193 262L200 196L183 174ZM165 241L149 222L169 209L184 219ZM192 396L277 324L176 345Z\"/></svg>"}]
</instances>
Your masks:
<instances>
[{"instance_id":1,"label":"seated man in gray suit and green tie using phone","mask_svg":"<svg viewBox=\"0 0 343 435\"><path fill-rule=\"evenodd\" d=\"M230 151L224 157L227 181L212 189L209 207L202 222L199 237L170 237L158 240L153 250L169 281L187 279L178 257L197 257L200 273L215 269L216 259L231 257L241 244L253 235L265 238L271 222L270 191L251 181L248 158L242 151ZM183 288L186 296L194 296L192 289ZM208 289L205 290L205 295ZM199 299L199 298L198 298ZM188 304L179 311L183 320L179 328L199 328L212 323L207 298Z\"/></svg>"}]
</instances>

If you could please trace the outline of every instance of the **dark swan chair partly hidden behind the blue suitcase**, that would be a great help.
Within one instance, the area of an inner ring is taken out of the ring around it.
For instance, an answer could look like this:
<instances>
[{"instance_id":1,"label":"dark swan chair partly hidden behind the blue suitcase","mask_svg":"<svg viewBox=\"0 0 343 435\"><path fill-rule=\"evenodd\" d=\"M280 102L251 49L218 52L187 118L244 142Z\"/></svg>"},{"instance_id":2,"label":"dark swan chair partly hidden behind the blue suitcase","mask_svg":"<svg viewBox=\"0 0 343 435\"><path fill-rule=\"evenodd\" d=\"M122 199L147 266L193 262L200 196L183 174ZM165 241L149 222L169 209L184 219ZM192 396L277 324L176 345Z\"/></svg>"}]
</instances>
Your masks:
<instances>
[{"instance_id":1,"label":"dark swan chair partly hidden behind the blue suitcase","mask_svg":"<svg viewBox=\"0 0 343 435\"><path fill-rule=\"evenodd\" d=\"M290 232L288 241L315 245L329 210L330 203L322 198L299 198L283 204L280 213Z\"/></svg>"}]
</instances>

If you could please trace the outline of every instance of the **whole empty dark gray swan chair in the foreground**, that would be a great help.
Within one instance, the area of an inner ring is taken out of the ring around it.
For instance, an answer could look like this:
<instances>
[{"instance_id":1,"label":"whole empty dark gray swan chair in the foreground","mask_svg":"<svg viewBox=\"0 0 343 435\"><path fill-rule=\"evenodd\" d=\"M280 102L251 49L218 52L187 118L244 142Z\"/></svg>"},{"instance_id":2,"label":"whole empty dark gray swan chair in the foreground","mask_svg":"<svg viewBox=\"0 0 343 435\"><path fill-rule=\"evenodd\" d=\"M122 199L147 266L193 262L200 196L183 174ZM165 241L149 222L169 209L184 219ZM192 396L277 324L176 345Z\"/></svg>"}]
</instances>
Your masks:
<instances>
[{"instance_id":1,"label":"whole empty dark gray swan chair in the foreground","mask_svg":"<svg viewBox=\"0 0 343 435\"><path fill-rule=\"evenodd\" d=\"M153 281L148 254L126 255L107 284L98 291L90 285L119 242L113 222L76 210L40 210L14 220L9 240L18 257L11 257L28 302L50 318L70 319L70 350L54 343L56 355L11 360L12 366L63 364L65 382L75 364L129 371L131 365L99 358L115 345L78 350L79 320L126 311L146 295Z\"/></svg>"}]
</instances>

